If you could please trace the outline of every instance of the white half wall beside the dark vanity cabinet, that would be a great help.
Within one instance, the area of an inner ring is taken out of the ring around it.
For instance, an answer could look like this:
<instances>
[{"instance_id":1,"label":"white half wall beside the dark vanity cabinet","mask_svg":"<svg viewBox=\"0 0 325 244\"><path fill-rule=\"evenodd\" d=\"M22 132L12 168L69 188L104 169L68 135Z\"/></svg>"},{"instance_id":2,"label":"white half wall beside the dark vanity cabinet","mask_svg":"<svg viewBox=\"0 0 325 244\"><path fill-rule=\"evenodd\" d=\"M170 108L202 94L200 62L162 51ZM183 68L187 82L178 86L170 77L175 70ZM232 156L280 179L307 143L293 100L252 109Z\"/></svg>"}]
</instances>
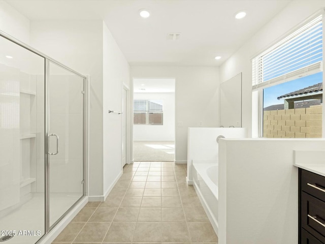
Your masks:
<instances>
[{"instance_id":1,"label":"white half wall beside the dark vanity cabinet","mask_svg":"<svg viewBox=\"0 0 325 244\"><path fill-rule=\"evenodd\" d=\"M323 150L322 139L219 141L219 243L298 243L294 150Z\"/></svg>"}]
</instances>

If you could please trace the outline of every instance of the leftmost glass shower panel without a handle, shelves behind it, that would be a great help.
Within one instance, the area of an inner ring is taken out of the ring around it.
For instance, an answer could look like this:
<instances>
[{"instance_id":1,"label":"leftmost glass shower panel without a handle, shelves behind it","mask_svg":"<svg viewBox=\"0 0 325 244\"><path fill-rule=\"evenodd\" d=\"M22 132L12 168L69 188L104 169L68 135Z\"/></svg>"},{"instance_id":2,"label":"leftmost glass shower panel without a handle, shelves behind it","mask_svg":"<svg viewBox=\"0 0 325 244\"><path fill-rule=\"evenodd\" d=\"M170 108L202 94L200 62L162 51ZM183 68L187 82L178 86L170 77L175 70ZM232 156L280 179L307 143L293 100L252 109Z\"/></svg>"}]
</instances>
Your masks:
<instances>
[{"instance_id":1,"label":"leftmost glass shower panel without a handle, shelves behind it","mask_svg":"<svg viewBox=\"0 0 325 244\"><path fill-rule=\"evenodd\" d=\"M45 234L45 58L0 37L0 242Z\"/></svg>"}]
</instances>

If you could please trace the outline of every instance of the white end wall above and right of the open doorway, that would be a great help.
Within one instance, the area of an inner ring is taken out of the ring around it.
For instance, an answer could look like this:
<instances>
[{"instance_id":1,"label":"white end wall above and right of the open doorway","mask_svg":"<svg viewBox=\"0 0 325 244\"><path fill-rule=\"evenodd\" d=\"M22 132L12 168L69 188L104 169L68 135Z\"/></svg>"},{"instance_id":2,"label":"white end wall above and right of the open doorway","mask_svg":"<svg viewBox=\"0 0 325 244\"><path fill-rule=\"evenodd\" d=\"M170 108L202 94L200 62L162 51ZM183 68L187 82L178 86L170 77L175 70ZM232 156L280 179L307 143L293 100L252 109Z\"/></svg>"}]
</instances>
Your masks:
<instances>
[{"instance_id":1,"label":"white end wall above and right of the open doorway","mask_svg":"<svg viewBox=\"0 0 325 244\"><path fill-rule=\"evenodd\" d=\"M219 126L219 70L216 67L133 66L133 78L175 78L176 162L187 162L187 128ZM179 127L178 123L183 126Z\"/></svg>"}]
</instances>

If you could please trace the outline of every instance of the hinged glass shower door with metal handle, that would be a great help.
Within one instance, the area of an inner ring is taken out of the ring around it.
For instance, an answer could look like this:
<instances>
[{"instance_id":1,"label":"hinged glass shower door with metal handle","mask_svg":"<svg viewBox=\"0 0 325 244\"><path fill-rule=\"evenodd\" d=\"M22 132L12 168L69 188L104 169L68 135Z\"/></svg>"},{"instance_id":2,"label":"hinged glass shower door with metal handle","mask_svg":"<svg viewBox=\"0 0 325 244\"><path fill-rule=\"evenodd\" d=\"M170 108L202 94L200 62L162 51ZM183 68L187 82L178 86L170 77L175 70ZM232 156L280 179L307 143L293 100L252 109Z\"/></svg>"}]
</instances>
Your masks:
<instances>
[{"instance_id":1,"label":"hinged glass shower door with metal handle","mask_svg":"<svg viewBox=\"0 0 325 244\"><path fill-rule=\"evenodd\" d=\"M50 228L84 192L84 79L49 62L47 137Z\"/></svg>"}]
</instances>

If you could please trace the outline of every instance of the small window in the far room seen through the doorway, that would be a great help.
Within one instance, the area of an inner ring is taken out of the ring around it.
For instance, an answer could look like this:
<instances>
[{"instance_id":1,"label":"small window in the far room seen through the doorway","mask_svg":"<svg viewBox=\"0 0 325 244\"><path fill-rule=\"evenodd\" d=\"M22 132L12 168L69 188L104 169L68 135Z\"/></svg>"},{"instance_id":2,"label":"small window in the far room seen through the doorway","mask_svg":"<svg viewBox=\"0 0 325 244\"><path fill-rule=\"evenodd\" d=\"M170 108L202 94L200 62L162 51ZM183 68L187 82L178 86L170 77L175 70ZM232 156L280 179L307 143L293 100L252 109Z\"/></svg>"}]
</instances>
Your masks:
<instances>
[{"instance_id":1,"label":"small window in the far room seen through the doorway","mask_svg":"<svg viewBox=\"0 0 325 244\"><path fill-rule=\"evenodd\" d=\"M162 100L134 100L134 125L163 125Z\"/></svg>"}]
</instances>

